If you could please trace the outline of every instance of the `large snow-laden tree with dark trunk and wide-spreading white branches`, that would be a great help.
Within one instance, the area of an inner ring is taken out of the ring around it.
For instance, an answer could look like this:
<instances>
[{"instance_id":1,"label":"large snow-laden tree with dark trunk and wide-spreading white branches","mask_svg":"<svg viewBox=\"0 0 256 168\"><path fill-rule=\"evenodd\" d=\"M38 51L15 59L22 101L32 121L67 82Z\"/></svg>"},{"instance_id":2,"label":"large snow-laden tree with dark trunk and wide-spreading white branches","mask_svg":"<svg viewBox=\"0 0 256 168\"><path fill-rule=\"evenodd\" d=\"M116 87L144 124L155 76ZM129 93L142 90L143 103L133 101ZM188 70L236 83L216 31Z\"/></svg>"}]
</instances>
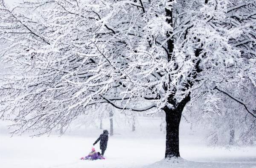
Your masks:
<instances>
[{"instance_id":1,"label":"large snow-laden tree with dark trunk and wide-spreading white branches","mask_svg":"<svg viewBox=\"0 0 256 168\"><path fill-rule=\"evenodd\" d=\"M0 3L0 38L11 44L1 60L19 67L0 89L1 118L12 117L13 133L51 132L92 104L163 110L165 157L178 157L192 98L256 87L255 0L31 0L13 10Z\"/></svg>"}]
</instances>

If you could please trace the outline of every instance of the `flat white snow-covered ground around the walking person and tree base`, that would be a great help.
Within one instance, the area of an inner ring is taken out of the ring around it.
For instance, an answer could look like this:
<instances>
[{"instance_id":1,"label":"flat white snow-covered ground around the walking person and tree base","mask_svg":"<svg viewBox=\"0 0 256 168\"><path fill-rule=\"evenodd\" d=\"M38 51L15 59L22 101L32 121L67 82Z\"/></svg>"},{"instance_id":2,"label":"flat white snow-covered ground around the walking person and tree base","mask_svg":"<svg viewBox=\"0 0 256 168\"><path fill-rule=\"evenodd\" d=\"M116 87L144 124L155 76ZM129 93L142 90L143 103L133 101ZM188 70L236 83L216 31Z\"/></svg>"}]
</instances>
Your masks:
<instances>
[{"instance_id":1,"label":"flat white snow-covered ground around the walking person and tree base","mask_svg":"<svg viewBox=\"0 0 256 168\"><path fill-rule=\"evenodd\" d=\"M88 154L102 130L80 127L60 137L10 138L2 122L0 165L1 168L256 168L256 147L207 148L200 131L192 132L185 124L180 127L183 159L178 163L166 162L162 160L165 135L160 132L160 119L143 118L139 123L135 132L115 125L116 134L109 138L106 159L87 161L79 158ZM99 151L99 144L96 151Z\"/></svg>"}]
</instances>

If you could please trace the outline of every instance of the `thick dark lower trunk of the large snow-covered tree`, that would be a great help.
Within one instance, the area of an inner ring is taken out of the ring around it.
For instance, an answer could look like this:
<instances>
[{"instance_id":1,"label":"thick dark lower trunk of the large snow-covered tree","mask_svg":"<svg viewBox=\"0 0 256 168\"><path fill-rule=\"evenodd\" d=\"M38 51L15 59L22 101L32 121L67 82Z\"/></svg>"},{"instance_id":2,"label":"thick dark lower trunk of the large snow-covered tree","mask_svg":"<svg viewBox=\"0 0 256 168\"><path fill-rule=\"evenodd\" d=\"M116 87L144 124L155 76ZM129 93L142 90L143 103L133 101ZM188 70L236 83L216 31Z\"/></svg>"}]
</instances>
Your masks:
<instances>
[{"instance_id":1,"label":"thick dark lower trunk of the large snow-covered tree","mask_svg":"<svg viewBox=\"0 0 256 168\"><path fill-rule=\"evenodd\" d=\"M166 153L165 158L180 157L179 149L179 127L182 111L187 102L190 101L190 96L181 101L176 108L170 109L164 107L166 113Z\"/></svg>"}]
</instances>

